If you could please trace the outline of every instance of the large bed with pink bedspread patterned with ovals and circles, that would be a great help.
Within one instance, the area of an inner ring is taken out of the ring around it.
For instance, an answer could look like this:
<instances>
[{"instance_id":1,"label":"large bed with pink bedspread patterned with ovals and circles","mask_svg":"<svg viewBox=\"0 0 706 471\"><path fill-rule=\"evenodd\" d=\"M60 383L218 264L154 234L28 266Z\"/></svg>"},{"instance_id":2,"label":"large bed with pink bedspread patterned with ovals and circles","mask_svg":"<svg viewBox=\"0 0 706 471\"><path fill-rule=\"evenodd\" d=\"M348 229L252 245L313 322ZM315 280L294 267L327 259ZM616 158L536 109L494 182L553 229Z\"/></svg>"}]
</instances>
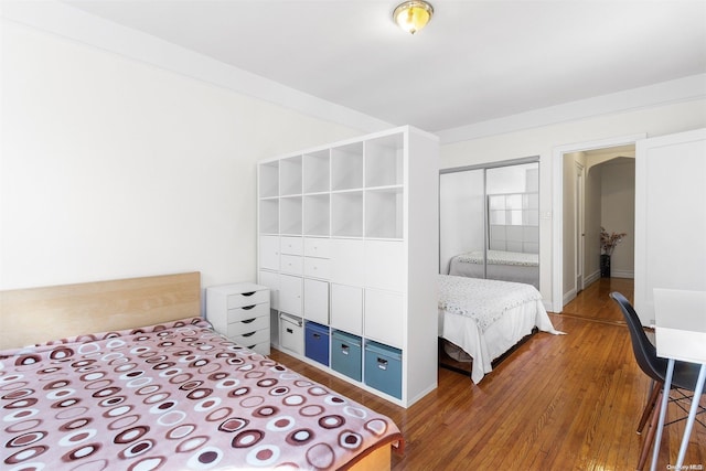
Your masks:
<instances>
[{"instance_id":1,"label":"large bed with pink bedspread patterned with ovals and circles","mask_svg":"<svg viewBox=\"0 0 706 471\"><path fill-rule=\"evenodd\" d=\"M340 469L396 425L201 318L0 352L3 469Z\"/></svg>"}]
</instances>

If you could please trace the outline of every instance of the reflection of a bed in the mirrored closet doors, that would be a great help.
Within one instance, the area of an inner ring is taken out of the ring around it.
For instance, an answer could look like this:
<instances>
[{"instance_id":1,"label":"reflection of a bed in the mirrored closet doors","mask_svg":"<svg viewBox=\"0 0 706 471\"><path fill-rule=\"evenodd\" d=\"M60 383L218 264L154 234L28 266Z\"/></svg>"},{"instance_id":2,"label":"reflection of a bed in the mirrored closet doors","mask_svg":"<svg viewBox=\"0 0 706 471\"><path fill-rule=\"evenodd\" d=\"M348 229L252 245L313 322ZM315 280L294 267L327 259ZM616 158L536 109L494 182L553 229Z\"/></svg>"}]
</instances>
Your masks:
<instances>
[{"instance_id":1,"label":"reflection of a bed in the mirrored closet doors","mask_svg":"<svg viewBox=\"0 0 706 471\"><path fill-rule=\"evenodd\" d=\"M473 250L451 258L449 275L471 278L484 278L483 264L488 264L488 278L516 281L538 288L539 256L521 251Z\"/></svg>"}]
</instances>

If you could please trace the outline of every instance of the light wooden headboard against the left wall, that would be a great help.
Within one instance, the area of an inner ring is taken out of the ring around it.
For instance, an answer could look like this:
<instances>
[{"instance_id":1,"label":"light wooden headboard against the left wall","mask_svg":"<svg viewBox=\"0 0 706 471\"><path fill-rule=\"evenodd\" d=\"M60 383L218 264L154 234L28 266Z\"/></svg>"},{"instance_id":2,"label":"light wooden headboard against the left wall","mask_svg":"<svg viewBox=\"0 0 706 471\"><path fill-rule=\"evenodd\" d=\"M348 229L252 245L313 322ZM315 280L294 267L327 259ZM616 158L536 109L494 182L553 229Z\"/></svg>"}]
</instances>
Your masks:
<instances>
[{"instance_id":1,"label":"light wooden headboard against the left wall","mask_svg":"<svg viewBox=\"0 0 706 471\"><path fill-rule=\"evenodd\" d=\"M201 274L0 291L0 350L201 314Z\"/></svg>"}]
</instances>

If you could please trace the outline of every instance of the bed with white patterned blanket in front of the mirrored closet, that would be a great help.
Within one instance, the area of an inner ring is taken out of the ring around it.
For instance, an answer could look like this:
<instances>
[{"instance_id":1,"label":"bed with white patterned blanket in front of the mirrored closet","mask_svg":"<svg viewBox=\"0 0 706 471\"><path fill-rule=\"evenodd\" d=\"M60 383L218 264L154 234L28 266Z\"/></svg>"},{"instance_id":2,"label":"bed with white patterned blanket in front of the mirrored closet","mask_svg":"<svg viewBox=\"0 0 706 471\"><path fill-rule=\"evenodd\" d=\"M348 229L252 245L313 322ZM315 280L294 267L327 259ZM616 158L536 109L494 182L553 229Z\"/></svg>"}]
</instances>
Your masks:
<instances>
[{"instance_id":1,"label":"bed with white patterned blanket in front of the mirrored closet","mask_svg":"<svg viewBox=\"0 0 706 471\"><path fill-rule=\"evenodd\" d=\"M439 336L472 358L471 379L479 383L491 362L538 330L559 334L531 285L439 275Z\"/></svg>"}]
</instances>

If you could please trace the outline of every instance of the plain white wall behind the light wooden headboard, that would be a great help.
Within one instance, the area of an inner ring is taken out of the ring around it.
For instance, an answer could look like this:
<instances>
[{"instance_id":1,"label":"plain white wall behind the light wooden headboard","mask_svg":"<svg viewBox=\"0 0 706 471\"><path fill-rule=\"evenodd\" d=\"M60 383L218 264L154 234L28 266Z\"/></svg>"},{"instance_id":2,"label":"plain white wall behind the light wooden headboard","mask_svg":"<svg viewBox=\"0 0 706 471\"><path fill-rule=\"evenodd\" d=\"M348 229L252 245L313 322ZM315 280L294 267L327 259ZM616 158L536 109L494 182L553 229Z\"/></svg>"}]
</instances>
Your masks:
<instances>
[{"instance_id":1,"label":"plain white wall behind the light wooden headboard","mask_svg":"<svg viewBox=\"0 0 706 471\"><path fill-rule=\"evenodd\" d=\"M362 133L1 25L0 289L255 280L255 162Z\"/></svg>"}]
</instances>

